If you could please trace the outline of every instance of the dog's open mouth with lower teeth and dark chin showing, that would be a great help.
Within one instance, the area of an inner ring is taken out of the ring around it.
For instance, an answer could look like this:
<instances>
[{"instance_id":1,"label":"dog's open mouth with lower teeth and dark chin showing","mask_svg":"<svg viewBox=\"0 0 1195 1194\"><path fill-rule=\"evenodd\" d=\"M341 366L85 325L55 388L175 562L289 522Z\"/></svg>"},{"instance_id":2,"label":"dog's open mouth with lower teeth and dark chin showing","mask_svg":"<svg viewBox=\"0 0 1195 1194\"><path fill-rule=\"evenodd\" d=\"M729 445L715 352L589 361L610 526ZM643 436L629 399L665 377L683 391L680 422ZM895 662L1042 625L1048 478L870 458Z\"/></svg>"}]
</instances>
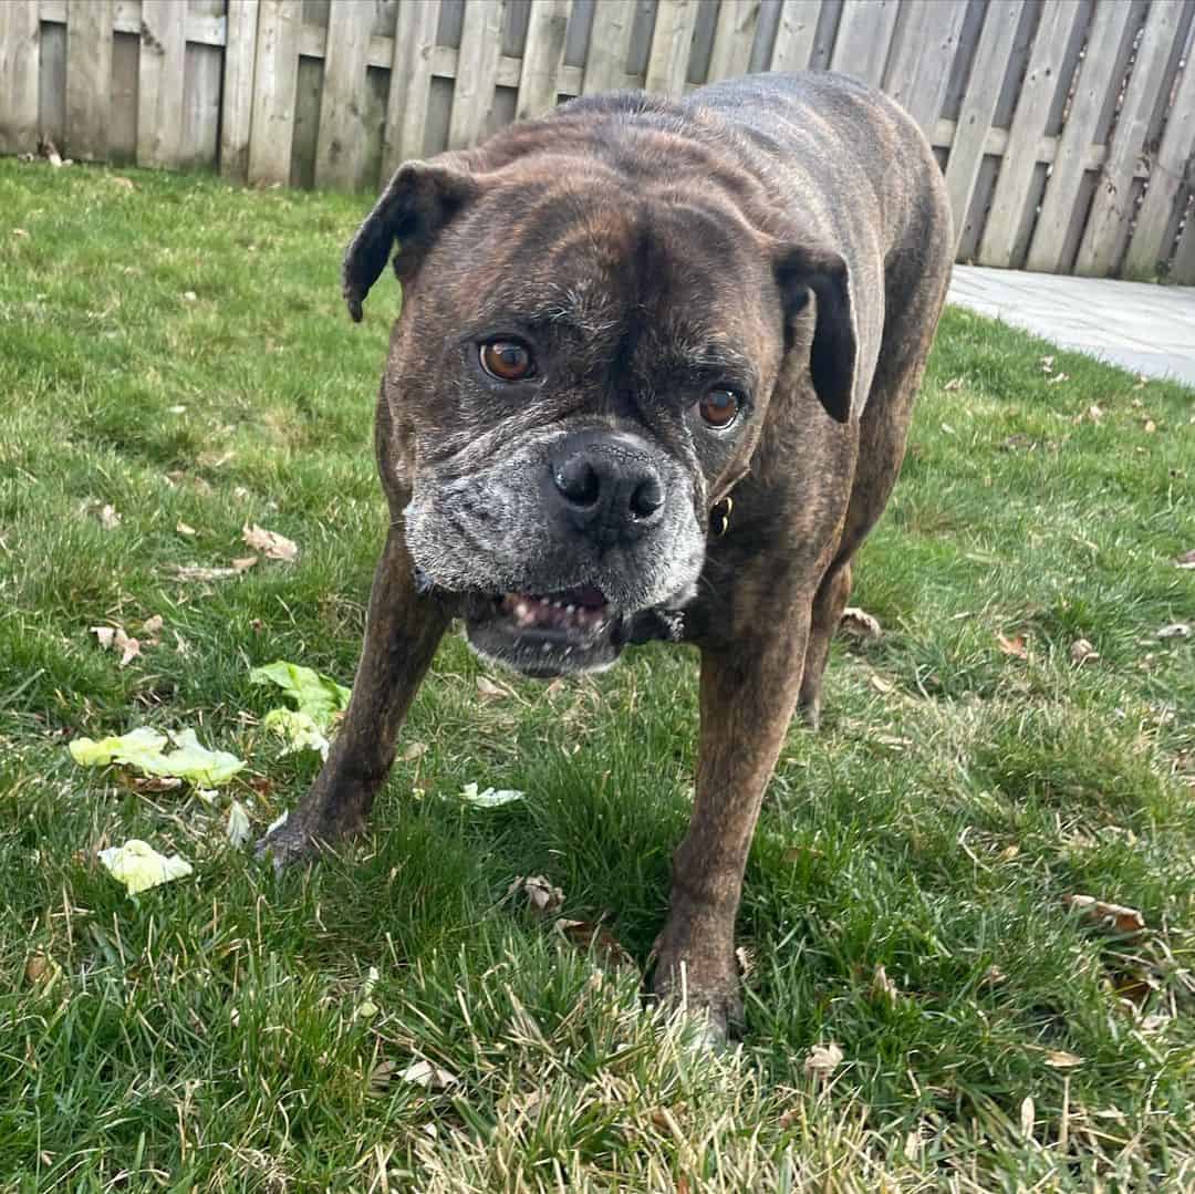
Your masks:
<instances>
[{"instance_id":1,"label":"dog's open mouth with lower teeth and dark chin showing","mask_svg":"<svg viewBox=\"0 0 1195 1194\"><path fill-rule=\"evenodd\" d=\"M552 593L480 594L465 631L483 655L533 676L608 667L623 649L624 618L594 584Z\"/></svg>"}]
</instances>

